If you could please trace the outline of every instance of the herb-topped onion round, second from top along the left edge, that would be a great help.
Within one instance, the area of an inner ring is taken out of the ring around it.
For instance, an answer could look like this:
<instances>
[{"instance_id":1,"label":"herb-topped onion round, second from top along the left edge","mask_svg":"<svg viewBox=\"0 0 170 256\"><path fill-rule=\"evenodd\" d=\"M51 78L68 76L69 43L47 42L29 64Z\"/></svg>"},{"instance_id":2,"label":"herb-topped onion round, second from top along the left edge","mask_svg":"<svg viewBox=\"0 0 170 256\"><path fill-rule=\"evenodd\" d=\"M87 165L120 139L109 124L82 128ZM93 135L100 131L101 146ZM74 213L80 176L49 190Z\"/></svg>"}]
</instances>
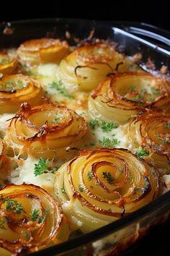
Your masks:
<instances>
[{"instance_id":1,"label":"herb-topped onion round, second from top along the left edge","mask_svg":"<svg viewBox=\"0 0 170 256\"><path fill-rule=\"evenodd\" d=\"M0 80L0 114L14 113L24 101L35 105L42 100L39 82L22 74L13 74Z\"/></svg>"}]
</instances>

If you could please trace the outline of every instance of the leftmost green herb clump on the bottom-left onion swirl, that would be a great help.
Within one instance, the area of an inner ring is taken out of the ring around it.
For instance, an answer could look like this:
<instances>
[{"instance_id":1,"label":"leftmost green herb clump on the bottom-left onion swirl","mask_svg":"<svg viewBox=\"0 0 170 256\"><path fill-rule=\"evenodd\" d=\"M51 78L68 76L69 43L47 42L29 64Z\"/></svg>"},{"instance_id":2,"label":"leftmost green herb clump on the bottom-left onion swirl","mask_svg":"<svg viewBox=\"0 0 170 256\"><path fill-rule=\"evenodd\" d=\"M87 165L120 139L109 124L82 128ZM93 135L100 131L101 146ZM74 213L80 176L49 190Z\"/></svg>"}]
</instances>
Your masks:
<instances>
[{"instance_id":1,"label":"leftmost green herb clump on the bottom-left onion swirl","mask_svg":"<svg viewBox=\"0 0 170 256\"><path fill-rule=\"evenodd\" d=\"M14 213L20 214L25 213L24 208L21 203L18 203L17 200L13 200L9 197L1 197L0 200L2 202L6 202L6 210L13 211Z\"/></svg>"}]
</instances>

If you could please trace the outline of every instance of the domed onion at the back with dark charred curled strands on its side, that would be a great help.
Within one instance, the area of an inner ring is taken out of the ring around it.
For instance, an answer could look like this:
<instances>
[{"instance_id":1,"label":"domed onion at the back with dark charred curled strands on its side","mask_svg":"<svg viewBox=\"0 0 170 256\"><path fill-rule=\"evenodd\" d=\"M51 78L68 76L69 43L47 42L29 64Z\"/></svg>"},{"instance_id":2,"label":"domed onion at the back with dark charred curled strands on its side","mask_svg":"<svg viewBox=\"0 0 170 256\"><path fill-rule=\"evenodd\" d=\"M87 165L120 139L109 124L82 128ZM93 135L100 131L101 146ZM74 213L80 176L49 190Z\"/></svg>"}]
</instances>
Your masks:
<instances>
[{"instance_id":1,"label":"domed onion at the back with dark charred curled strands on its side","mask_svg":"<svg viewBox=\"0 0 170 256\"><path fill-rule=\"evenodd\" d=\"M97 87L107 74L125 72L127 66L112 43L96 43L76 48L61 61L58 80L68 88L89 91Z\"/></svg>"}]
</instances>

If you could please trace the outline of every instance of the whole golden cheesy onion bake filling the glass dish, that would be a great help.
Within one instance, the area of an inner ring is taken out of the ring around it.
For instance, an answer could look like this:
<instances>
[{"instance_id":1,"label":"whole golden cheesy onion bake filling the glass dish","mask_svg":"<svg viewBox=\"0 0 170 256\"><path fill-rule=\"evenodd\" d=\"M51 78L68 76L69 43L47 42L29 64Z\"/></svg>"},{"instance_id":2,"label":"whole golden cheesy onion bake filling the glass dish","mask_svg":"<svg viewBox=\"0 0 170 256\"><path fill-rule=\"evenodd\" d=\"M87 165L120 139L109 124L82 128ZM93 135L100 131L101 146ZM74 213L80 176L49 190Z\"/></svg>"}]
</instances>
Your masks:
<instances>
[{"instance_id":1,"label":"whole golden cheesy onion bake filling the glass dish","mask_svg":"<svg viewBox=\"0 0 170 256\"><path fill-rule=\"evenodd\" d=\"M127 216L170 187L170 83L107 40L0 52L0 255Z\"/></svg>"}]
</instances>

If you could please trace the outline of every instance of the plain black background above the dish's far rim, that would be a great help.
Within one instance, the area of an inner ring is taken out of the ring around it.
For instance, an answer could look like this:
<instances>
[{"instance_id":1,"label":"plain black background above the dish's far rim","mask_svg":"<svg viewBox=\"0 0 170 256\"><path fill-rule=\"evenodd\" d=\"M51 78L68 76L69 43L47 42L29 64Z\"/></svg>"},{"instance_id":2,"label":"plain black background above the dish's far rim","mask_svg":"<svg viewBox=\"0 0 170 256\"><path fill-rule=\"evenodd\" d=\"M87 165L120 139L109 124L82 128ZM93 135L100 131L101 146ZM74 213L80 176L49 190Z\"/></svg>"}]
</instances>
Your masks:
<instances>
[{"instance_id":1,"label":"plain black background above the dish's far rim","mask_svg":"<svg viewBox=\"0 0 170 256\"><path fill-rule=\"evenodd\" d=\"M48 17L146 22L170 30L168 0L0 0L0 22Z\"/></svg>"}]
</instances>

